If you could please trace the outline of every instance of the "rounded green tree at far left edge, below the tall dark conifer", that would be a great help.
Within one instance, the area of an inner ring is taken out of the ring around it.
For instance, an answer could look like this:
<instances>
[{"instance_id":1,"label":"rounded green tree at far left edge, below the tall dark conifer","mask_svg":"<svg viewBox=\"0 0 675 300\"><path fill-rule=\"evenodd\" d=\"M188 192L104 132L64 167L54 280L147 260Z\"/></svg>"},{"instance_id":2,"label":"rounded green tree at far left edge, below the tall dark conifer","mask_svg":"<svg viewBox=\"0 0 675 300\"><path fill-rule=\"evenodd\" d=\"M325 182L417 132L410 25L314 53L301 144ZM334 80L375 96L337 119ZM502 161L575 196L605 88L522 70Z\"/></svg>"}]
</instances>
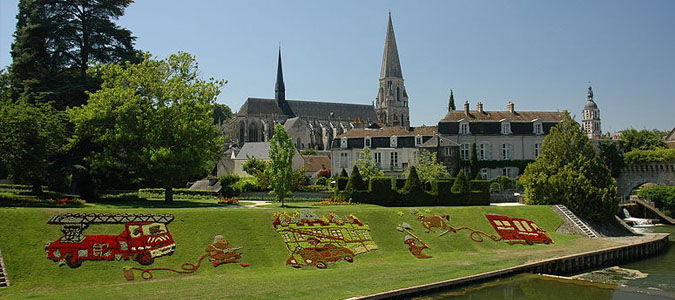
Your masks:
<instances>
[{"instance_id":1,"label":"rounded green tree at far left edge, below the tall dark conifer","mask_svg":"<svg viewBox=\"0 0 675 300\"><path fill-rule=\"evenodd\" d=\"M43 184L56 179L56 156L66 140L65 116L50 105L25 102L0 106L0 165L12 180L33 186L40 194Z\"/></svg>"}]
</instances>

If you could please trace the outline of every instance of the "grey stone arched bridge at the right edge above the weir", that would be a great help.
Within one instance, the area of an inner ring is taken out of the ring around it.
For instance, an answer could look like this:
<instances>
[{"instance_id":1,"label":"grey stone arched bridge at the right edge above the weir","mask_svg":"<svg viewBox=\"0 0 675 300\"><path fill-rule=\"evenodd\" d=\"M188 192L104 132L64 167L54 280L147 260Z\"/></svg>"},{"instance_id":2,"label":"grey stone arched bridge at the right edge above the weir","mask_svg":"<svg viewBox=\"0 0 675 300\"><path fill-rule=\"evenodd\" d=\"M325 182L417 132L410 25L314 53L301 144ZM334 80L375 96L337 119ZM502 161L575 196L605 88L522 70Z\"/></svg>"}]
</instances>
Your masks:
<instances>
[{"instance_id":1,"label":"grey stone arched bridge at the right edge above the weir","mask_svg":"<svg viewBox=\"0 0 675 300\"><path fill-rule=\"evenodd\" d=\"M616 179L619 197L628 197L630 192L645 183L675 185L675 162L658 162L629 165L621 169Z\"/></svg>"}]
</instances>

